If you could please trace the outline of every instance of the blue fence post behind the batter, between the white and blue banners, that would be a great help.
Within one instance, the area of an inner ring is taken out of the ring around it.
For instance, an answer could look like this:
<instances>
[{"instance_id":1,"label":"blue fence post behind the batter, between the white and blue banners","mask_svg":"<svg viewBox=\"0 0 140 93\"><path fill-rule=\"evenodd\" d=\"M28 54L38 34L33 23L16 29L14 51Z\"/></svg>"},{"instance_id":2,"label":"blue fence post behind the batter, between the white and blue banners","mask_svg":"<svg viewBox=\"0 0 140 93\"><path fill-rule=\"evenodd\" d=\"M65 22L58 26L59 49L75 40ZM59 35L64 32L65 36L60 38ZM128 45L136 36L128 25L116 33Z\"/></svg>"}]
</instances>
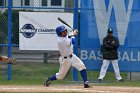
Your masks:
<instances>
[{"instance_id":1,"label":"blue fence post behind the batter, between the white and blue banners","mask_svg":"<svg viewBox=\"0 0 140 93\"><path fill-rule=\"evenodd\" d=\"M74 0L74 17L73 17L74 29L78 29L78 0ZM77 43L74 45L74 53L78 56L78 36L75 37ZM73 69L73 80L78 81L78 71Z\"/></svg>"}]
</instances>

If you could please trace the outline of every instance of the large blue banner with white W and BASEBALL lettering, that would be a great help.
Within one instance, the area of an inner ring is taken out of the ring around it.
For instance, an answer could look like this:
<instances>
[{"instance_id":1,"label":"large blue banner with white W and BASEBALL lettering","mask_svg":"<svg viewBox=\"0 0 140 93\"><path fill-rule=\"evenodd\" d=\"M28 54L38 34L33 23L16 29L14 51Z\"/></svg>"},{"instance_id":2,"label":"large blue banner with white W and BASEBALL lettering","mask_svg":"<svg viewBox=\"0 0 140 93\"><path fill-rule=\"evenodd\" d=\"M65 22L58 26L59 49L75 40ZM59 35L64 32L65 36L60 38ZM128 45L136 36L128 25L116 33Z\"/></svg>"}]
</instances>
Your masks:
<instances>
[{"instance_id":1,"label":"large blue banner with white W and BASEBALL lettering","mask_svg":"<svg viewBox=\"0 0 140 93\"><path fill-rule=\"evenodd\" d=\"M80 6L80 54L87 69L100 70L100 47L112 28L120 70L140 71L140 0L81 0Z\"/></svg>"}]
</instances>

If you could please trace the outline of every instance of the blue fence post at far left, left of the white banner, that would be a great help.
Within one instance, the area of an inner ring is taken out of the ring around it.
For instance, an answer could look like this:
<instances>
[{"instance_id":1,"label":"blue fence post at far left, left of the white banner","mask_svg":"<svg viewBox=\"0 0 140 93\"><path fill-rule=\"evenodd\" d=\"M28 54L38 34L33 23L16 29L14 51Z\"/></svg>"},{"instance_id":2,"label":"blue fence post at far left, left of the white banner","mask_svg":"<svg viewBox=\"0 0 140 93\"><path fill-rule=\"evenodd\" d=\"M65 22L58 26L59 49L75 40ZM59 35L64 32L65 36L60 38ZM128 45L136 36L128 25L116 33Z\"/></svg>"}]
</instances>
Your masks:
<instances>
[{"instance_id":1,"label":"blue fence post at far left, left of the white banner","mask_svg":"<svg viewBox=\"0 0 140 93\"><path fill-rule=\"evenodd\" d=\"M8 57L11 56L11 32L12 32L12 0L8 0ZM11 80L11 64L7 67L8 80Z\"/></svg>"}]
</instances>

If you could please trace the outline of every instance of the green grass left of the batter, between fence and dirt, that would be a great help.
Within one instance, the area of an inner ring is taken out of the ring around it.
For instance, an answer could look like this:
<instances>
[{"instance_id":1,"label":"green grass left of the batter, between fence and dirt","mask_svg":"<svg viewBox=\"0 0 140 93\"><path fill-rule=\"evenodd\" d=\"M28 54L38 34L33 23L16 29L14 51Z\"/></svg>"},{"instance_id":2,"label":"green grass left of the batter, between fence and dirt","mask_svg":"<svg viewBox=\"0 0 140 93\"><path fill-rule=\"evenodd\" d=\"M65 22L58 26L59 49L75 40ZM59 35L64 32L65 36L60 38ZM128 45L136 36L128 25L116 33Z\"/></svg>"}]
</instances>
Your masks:
<instances>
[{"instance_id":1,"label":"green grass left of the batter, between fence and dirt","mask_svg":"<svg viewBox=\"0 0 140 93\"><path fill-rule=\"evenodd\" d=\"M58 72L59 64L44 64L44 63L13 64L12 80L9 81L7 81L7 65L1 64L0 69L1 69L0 72L1 85L2 84L42 85L46 80L46 78ZM62 81L69 81L69 80L72 80L72 75L66 76L66 78ZM60 81L57 82L59 83Z\"/></svg>"}]
</instances>

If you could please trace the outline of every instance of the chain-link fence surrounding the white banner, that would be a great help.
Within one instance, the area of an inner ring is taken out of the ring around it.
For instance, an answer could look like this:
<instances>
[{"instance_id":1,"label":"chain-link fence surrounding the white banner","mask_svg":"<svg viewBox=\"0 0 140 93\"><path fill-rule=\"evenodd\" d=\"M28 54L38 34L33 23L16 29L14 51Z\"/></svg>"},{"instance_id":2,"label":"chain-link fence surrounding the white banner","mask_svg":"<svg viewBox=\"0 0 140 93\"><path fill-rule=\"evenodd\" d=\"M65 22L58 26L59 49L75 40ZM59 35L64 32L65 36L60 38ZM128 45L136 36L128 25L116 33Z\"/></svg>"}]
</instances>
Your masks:
<instances>
[{"instance_id":1,"label":"chain-link fence surrounding the white banner","mask_svg":"<svg viewBox=\"0 0 140 93\"><path fill-rule=\"evenodd\" d=\"M0 3L0 41L1 55L7 55L8 0ZM19 50L19 12L74 12L74 0L13 0L12 1L12 56L17 61L47 62L47 59L58 60L58 51L24 51ZM39 16L39 15L38 15ZM53 24L52 24L53 25ZM26 55L26 56L25 56ZM53 56L54 55L54 56ZM47 58L44 58L47 57Z\"/></svg>"}]
</instances>

